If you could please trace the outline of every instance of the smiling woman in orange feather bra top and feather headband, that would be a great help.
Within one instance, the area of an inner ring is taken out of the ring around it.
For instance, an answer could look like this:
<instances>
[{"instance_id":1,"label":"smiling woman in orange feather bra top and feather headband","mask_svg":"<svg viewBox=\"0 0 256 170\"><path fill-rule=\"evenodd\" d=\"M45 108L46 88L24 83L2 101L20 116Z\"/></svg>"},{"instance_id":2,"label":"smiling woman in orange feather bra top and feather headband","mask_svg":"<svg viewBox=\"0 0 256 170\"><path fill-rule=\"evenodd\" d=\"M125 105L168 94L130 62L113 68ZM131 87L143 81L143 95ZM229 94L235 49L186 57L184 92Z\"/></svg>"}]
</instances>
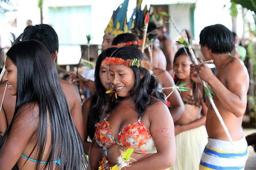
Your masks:
<instances>
[{"instance_id":1,"label":"smiling woman in orange feather bra top and feather headband","mask_svg":"<svg viewBox=\"0 0 256 170\"><path fill-rule=\"evenodd\" d=\"M126 46L101 65L109 66L113 96L94 136L105 156L99 168L108 164L141 170L171 166L176 157L174 123L144 55ZM128 148L134 149L130 163L121 156Z\"/></svg>"}]
</instances>

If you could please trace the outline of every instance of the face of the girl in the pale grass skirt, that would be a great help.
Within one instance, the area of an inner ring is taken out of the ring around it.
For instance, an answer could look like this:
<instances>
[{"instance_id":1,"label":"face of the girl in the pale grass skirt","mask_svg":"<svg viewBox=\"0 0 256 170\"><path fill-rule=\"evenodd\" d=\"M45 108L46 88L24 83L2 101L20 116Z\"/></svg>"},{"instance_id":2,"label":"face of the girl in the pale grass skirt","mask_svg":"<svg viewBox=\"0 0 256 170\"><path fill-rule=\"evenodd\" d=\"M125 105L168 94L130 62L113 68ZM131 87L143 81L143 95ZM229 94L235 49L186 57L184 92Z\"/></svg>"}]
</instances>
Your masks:
<instances>
[{"instance_id":1,"label":"face of the girl in the pale grass skirt","mask_svg":"<svg viewBox=\"0 0 256 170\"><path fill-rule=\"evenodd\" d=\"M192 62L185 54L182 54L176 58L176 61L174 63L174 71L178 79L189 79L190 64L192 64Z\"/></svg>"}]
</instances>

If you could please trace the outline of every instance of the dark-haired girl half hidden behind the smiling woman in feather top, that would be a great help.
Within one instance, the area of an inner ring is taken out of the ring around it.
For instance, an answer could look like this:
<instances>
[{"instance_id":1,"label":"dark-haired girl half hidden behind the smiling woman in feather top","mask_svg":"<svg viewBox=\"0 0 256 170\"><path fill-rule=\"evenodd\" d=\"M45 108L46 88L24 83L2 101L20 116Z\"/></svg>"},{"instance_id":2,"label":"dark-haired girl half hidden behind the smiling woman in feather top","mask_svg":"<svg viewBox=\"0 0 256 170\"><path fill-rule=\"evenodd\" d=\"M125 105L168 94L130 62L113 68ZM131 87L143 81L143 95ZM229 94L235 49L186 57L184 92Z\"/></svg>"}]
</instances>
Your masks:
<instances>
[{"instance_id":1,"label":"dark-haired girl half hidden behind the smiling woman in feather top","mask_svg":"<svg viewBox=\"0 0 256 170\"><path fill-rule=\"evenodd\" d=\"M101 149L93 142L94 133L95 133L95 125L99 123L100 118L107 109L107 103L109 101L109 97L106 95L106 90L110 88L110 81L109 81L109 68L108 66L101 65L101 62L106 58L110 57L117 48L108 48L104 50L98 57L96 66L95 66L95 74L94 74L94 83L95 83L95 94L86 100L82 104L82 113L84 117L84 124L86 127L85 130L85 137L86 137L86 154L90 155L90 161L93 162L94 159L100 159ZM89 148L90 153L89 153ZM96 154L98 153L98 154ZM98 162L96 162L95 167L98 167Z\"/></svg>"}]
</instances>

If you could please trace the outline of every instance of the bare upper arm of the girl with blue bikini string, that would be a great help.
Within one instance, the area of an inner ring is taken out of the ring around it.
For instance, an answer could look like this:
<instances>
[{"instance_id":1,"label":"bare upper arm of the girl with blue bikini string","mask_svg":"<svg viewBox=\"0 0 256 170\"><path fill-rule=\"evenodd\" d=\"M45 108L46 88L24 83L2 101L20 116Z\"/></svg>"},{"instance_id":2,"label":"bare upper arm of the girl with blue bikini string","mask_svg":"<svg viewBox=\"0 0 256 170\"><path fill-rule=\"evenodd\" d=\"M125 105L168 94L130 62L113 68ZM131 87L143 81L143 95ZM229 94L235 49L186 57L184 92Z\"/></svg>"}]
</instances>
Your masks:
<instances>
[{"instance_id":1,"label":"bare upper arm of the girl with blue bikini string","mask_svg":"<svg viewBox=\"0 0 256 170\"><path fill-rule=\"evenodd\" d=\"M22 106L17 112L16 119L0 154L0 169L12 169L23 153L31 136L38 126L38 116L35 116L30 106Z\"/></svg>"}]
</instances>

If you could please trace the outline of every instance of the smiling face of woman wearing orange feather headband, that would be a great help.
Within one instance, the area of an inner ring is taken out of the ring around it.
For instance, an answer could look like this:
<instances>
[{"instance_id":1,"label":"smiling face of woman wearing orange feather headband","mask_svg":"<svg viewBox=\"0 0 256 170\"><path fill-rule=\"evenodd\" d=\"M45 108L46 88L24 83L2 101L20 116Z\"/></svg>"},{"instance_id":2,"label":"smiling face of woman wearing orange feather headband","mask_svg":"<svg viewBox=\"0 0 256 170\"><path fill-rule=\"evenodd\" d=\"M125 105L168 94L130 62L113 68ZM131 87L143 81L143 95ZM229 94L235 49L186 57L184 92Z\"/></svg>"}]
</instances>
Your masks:
<instances>
[{"instance_id":1,"label":"smiling face of woman wearing orange feather headband","mask_svg":"<svg viewBox=\"0 0 256 170\"><path fill-rule=\"evenodd\" d=\"M110 82L113 84L119 96L130 95L130 90L135 84L133 70L129 66L110 65Z\"/></svg>"}]
</instances>

